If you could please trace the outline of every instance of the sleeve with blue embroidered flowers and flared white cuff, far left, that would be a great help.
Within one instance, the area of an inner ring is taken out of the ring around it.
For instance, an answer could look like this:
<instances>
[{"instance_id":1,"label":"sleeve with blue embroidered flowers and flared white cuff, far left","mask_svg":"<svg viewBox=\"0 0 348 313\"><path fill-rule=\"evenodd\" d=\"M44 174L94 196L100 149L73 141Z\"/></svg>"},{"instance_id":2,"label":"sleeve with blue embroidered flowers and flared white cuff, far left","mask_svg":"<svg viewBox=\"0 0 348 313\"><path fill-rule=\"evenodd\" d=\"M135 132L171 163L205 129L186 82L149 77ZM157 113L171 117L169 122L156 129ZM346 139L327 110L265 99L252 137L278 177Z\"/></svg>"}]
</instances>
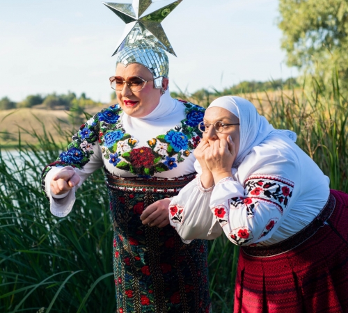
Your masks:
<instances>
[{"instance_id":1,"label":"sleeve with blue embroidered flowers and flared white cuff, far left","mask_svg":"<svg viewBox=\"0 0 348 313\"><path fill-rule=\"evenodd\" d=\"M75 202L75 192L84 181L98 168L103 166L102 153L100 150L99 130L97 118L93 117L84 125L81 125L77 134L72 136L72 143L68 145L58 159L45 167L42 172L42 191L51 204L51 212L54 216L67 216ZM62 168L69 167L79 175L80 182L68 193L53 195L50 182Z\"/></svg>"}]
</instances>

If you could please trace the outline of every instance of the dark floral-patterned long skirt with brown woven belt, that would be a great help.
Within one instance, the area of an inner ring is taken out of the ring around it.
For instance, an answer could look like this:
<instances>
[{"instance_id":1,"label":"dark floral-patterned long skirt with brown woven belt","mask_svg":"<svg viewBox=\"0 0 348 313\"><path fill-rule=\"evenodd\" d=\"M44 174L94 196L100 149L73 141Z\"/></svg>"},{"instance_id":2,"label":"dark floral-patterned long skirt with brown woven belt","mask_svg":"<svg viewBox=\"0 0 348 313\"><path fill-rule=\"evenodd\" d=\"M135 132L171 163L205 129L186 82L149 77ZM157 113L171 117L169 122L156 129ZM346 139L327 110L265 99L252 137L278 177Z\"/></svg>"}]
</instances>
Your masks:
<instances>
[{"instance_id":1,"label":"dark floral-patterned long skirt with brown woven belt","mask_svg":"<svg viewBox=\"0 0 348 313\"><path fill-rule=\"evenodd\" d=\"M209 312L207 243L182 243L170 225L143 225L143 210L170 198L194 175L177 179L120 179L106 172L113 218L117 311Z\"/></svg>"}]
</instances>

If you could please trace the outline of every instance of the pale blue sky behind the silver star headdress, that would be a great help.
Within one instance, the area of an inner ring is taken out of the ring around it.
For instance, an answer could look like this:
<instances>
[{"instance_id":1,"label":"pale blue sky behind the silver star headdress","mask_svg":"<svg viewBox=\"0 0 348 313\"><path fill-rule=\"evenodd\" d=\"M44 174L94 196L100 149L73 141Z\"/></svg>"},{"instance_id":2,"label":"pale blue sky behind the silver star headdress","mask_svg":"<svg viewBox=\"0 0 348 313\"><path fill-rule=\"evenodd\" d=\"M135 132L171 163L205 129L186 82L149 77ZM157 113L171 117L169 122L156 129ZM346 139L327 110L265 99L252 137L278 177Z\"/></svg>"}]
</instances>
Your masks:
<instances>
[{"instance_id":1,"label":"pale blue sky behind the silver star headdress","mask_svg":"<svg viewBox=\"0 0 348 313\"><path fill-rule=\"evenodd\" d=\"M177 54L169 56L171 90L296 77L277 17L278 0L183 0L162 22ZM0 98L71 90L108 102L124 26L101 1L2 0Z\"/></svg>"}]
</instances>

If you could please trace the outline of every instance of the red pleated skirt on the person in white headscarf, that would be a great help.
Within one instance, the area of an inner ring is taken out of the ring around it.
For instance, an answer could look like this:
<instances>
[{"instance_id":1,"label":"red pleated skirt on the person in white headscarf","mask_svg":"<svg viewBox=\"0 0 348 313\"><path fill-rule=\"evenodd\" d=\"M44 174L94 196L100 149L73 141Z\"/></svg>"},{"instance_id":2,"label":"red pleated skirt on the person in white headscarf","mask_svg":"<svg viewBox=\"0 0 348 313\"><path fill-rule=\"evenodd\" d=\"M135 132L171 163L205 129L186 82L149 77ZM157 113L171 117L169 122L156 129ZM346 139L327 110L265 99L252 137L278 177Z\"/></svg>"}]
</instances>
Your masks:
<instances>
[{"instance_id":1,"label":"red pleated skirt on the person in white headscarf","mask_svg":"<svg viewBox=\"0 0 348 313\"><path fill-rule=\"evenodd\" d=\"M269 257L241 249L235 313L348 312L348 195L331 195L330 218L296 248Z\"/></svg>"}]
</instances>

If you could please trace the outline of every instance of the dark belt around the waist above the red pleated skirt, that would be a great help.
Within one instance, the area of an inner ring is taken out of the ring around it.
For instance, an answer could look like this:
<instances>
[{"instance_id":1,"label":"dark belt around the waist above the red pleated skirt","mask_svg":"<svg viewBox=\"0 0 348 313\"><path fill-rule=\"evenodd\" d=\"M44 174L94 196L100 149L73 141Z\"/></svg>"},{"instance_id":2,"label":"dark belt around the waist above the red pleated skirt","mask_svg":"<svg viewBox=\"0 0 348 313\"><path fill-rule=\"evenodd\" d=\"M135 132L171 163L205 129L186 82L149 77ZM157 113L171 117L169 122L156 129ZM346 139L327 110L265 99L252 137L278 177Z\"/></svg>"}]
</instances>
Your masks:
<instances>
[{"instance_id":1,"label":"dark belt around the waist above the red pleated skirt","mask_svg":"<svg viewBox=\"0 0 348 313\"><path fill-rule=\"evenodd\" d=\"M313 236L320 227L326 225L326 220L331 216L333 210L335 209L335 197L332 194L329 195L329 199L326 202L324 208L317 217L310 222L303 230L300 230L293 236L285 239L284 241L280 241L271 246L264 247L251 247L245 246L242 247L242 250L246 255L250 255L251 257L272 257L274 255L280 255L284 252L290 251L297 246L301 245L304 241Z\"/></svg>"}]
</instances>

